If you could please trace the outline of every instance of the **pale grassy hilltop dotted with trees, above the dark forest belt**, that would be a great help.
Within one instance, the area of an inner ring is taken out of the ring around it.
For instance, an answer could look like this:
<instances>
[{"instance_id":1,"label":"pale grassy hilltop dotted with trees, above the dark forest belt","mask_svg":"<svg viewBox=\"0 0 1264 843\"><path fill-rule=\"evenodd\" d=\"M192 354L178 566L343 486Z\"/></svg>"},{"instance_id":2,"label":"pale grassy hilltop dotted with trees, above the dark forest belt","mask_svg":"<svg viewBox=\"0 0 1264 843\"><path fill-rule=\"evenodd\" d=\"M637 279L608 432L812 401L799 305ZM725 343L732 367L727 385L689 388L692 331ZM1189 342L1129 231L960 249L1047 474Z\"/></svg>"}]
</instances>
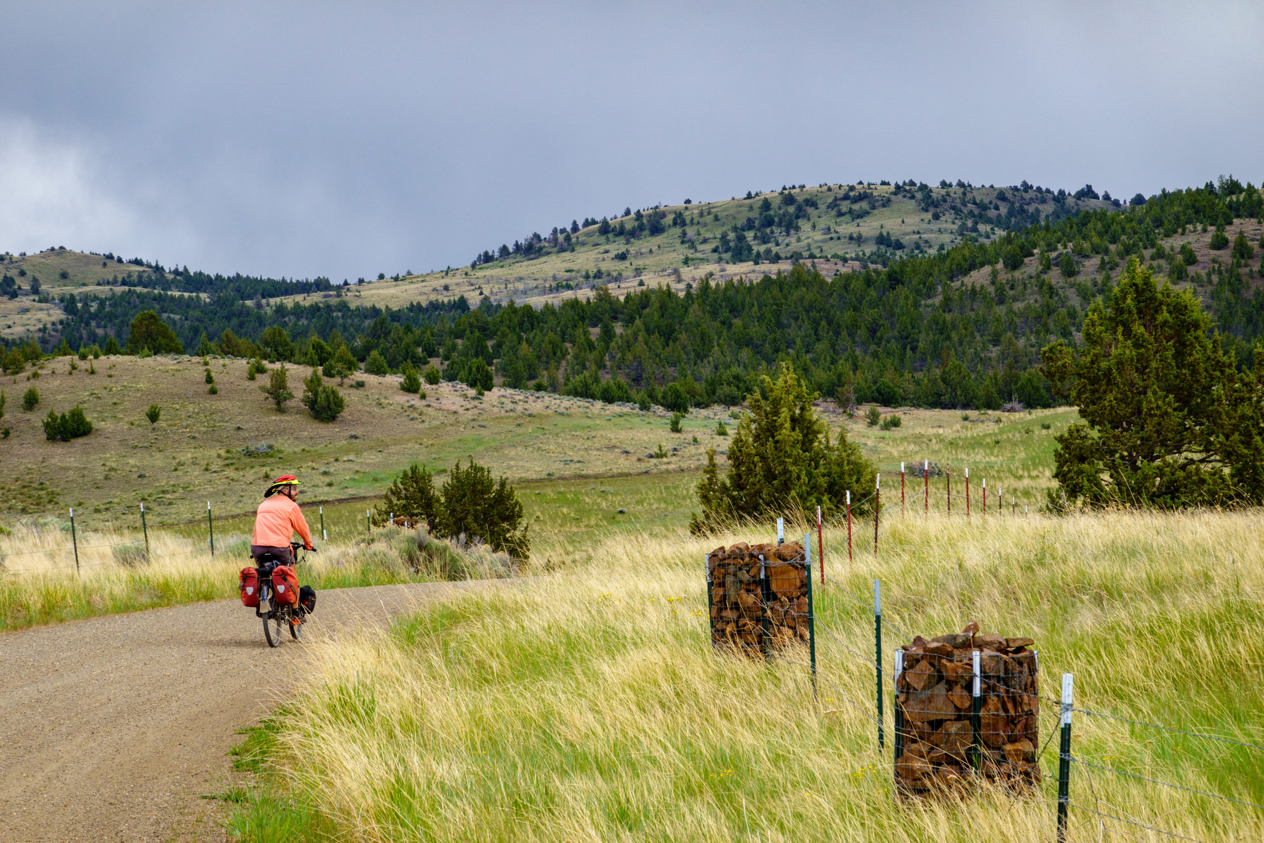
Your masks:
<instances>
[{"instance_id":1,"label":"pale grassy hilltop dotted with trees, above the dark forest belt","mask_svg":"<svg viewBox=\"0 0 1264 843\"><path fill-rule=\"evenodd\" d=\"M793 198L793 203L787 200ZM995 224L980 225L981 212L996 215L1010 205L1018 222L1058 219L1081 210L1112 209L1100 198L1064 197L1049 192L1014 191L982 186L916 187L880 185L798 186L782 191L751 193L748 197L666 205L612 216L616 226L602 234L598 220L590 217L574 234L568 224L551 229L531 250L509 254L477 267L469 264L416 276L382 281L368 279L355 294L358 301L399 307L410 301L430 301L465 294L473 301L484 296L493 302L514 300L540 306L592 289L600 283L612 292L642 286L665 284L683 291L707 273L717 278L757 279L765 273L787 268L793 260L813 260L825 274L886 264L908 254L934 253L966 238L990 240L1002 231ZM765 205L767 209L765 210ZM800 216L794 216L799 214ZM660 234L647 238L650 215L659 216ZM766 215L771 215L769 222ZM646 220L640 234L632 234L638 220ZM1014 216L1010 220L1015 220ZM576 221L578 224L578 221ZM618 234L623 224L626 234ZM743 230L760 262L750 255L731 260L733 253L717 253L720 236L732 241L734 226ZM516 241L532 243L533 235ZM570 240L565 240L566 235ZM890 240L889 240L890 238ZM502 254L499 245L487 250ZM772 258L776 258L776 263Z\"/></svg>"}]
</instances>

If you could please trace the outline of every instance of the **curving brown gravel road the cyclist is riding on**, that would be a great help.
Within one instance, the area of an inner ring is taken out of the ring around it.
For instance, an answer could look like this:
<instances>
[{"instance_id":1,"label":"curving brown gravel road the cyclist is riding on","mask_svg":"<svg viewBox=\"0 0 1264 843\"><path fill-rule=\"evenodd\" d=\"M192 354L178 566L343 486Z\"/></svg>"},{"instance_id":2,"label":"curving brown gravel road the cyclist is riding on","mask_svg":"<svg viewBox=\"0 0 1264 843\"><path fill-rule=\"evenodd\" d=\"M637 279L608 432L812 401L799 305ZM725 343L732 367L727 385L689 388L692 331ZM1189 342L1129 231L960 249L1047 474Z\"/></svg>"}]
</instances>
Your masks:
<instances>
[{"instance_id":1,"label":"curving brown gravel road the cyclist is riding on","mask_svg":"<svg viewBox=\"0 0 1264 843\"><path fill-rule=\"evenodd\" d=\"M306 640L480 583L321 591ZM301 672L238 600L0 634L0 840L222 840L234 732Z\"/></svg>"}]
</instances>

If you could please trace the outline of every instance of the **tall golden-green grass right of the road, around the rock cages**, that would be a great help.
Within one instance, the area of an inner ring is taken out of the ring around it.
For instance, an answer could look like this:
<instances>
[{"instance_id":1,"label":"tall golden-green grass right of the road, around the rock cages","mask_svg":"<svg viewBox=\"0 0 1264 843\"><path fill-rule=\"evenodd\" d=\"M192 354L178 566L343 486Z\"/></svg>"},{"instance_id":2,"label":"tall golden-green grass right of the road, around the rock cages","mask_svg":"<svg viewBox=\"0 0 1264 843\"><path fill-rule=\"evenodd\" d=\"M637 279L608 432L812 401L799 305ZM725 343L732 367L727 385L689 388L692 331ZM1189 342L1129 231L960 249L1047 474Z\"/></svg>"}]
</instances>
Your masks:
<instances>
[{"instance_id":1,"label":"tall golden-green grass right of the road, around the rock cages","mask_svg":"<svg viewBox=\"0 0 1264 843\"><path fill-rule=\"evenodd\" d=\"M851 566L830 531L817 700L806 653L755 664L709 646L703 554L737 537L613 537L590 565L321 645L308 690L243 747L265 777L231 828L258 840L1053 839L1055 743L1035 796L894 799L871 719L871 580L892 622L887 669L896 627L977 619L1038 641L1044 696L1069 671L1081 707L1264 743L1259 528L1259 512L909 517L887 522L880 557ZM1042 741L1055 720L1043 703ZM1251 749L1077 714L1073 753L1264 803ZM1079 765L1071 792L1072 840L1141 832L1078 805L1201 840L1264 834L1264 811Z\"/></svg>"}]
</instances>

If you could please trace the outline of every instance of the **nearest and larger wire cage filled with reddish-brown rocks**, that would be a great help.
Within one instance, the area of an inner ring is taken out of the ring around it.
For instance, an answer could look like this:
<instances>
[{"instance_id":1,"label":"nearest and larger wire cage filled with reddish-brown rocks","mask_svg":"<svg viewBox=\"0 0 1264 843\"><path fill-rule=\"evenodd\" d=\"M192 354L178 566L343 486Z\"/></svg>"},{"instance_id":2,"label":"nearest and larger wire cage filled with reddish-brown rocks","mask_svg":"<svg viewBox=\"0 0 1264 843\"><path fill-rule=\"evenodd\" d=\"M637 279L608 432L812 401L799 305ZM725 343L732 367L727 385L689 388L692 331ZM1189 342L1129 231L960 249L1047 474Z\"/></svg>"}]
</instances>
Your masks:
<instances>
[{"instance_id":1,"label":"nearest and larger wire cage filled with reddish-brown rocks","mask_svg":"<svg viewBox=\"0 0 1264 843\"><path fill-rule=\"evenodd\" d=\"M966 632L895 653L895 785L901 795L964 795L986 782L1040 782L1039 656L1031 638Z\"/></svg>"}]
</instances>

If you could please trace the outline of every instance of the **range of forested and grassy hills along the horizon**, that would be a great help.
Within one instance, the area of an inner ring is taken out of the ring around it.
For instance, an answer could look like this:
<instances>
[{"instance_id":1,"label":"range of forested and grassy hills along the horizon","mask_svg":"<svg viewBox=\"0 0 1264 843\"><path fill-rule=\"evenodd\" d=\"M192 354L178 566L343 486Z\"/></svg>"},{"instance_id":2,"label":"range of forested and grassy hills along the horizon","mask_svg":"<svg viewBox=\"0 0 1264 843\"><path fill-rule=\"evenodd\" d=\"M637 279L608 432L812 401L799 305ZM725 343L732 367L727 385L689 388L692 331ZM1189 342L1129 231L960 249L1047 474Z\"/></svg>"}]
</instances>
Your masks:
<instances>
[{"instance_id":1,"label":"range of forested and grassy hills along the horizon","mask_svg":"<svg viewBox=\"0 0 1264 843\"><path fill-rule=\"evenodd\" d=\"M27 327L0 327L10 343L28 339L27 358L32 340L42 351L121 345L153 310L186 351L324 364L346 344L378 373L434 361L449 382L672 409L738 403L781 363L827 397L1043 407L1053 396L1039 349L1076 343L1087 308L1110 300L1134 259L1193 289L1248 365L1264 330L1260 214L1259 191L1232 178L1127 206L1088 186L1026 182L795 186L626 209L461 268L350 286L58 248L5 257L0 301L25 307L14 318ZM54 274L57 262L70 268ZM37 267L47 286L32 302L14 283Z\"/></svg>"}]
</instances>

